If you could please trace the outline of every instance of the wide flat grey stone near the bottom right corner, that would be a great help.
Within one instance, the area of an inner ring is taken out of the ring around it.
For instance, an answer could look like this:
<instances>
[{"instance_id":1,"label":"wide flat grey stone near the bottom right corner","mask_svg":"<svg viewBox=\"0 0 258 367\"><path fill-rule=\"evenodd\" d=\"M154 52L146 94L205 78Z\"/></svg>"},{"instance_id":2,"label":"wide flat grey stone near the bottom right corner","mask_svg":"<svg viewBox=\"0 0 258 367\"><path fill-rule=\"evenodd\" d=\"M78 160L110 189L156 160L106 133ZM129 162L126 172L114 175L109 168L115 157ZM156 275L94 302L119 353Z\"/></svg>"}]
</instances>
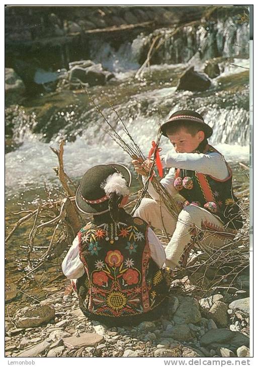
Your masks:
<instances>
[{"instance_id":1,"label":"wide flat grey stone near the bottom right corner","mask_svg":"<svg viewBox=\"0 0 258 367\"><path fill-rule=\"evenodd\" d=\"M212 329L207 331L201 339L201 345L209 344L219 344L230 343L236 347L241 345L249 345L249 338L238 331L231 331L228 329Z\"/></svg>"}]
</instances>

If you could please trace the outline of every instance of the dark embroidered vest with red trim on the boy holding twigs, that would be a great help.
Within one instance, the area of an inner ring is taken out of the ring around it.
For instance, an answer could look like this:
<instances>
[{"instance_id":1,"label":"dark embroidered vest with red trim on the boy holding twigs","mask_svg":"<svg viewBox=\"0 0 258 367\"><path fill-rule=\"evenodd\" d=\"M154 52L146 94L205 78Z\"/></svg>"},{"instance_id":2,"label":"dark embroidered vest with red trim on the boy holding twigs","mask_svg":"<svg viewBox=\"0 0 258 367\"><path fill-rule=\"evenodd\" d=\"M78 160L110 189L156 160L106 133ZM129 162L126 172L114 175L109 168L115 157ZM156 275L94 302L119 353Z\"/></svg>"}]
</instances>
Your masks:
<instances>
[{"instance_id":1,"label":"dark embroidered vest with red trim on the boy holding twigs","mask_svg":"<svg viewBox=\"0 0 258 367\"><path fill-rule=\"evenodd\" d=\"M207 145L203 153L211 152L217 152L217 150ZM222 155L221 159L224 160ZM228 165L227 168L230 175L224 180L208 174L176 168L174 186L186 199L184 206L203 207L218 216L227 227L239 229L243 225L242 218L239 214L237 199L233 194L232 172Z\"/></svg>"}]
</instances>

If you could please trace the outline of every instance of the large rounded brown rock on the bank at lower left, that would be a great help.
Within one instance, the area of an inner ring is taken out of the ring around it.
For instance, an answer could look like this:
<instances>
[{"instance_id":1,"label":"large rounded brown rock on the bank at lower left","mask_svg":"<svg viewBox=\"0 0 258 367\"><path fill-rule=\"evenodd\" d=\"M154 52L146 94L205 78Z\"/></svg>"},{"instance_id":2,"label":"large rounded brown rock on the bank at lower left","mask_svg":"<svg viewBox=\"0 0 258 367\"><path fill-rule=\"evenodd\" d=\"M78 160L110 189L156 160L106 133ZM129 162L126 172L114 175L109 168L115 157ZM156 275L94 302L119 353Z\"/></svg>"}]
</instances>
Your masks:
<instances>
[{"instance_id":1,"label":"large rounded brown rock on the bank at lower left","mask_svg":"<svg viewBox=\"0 0 258 367\"><path fill-rule=\"evenodd\" d=\"M53 319L55 309L50 305L34 305L25 307L15 313L15 324L19 328L37 327Z\"/></svg>"}]
</instances>

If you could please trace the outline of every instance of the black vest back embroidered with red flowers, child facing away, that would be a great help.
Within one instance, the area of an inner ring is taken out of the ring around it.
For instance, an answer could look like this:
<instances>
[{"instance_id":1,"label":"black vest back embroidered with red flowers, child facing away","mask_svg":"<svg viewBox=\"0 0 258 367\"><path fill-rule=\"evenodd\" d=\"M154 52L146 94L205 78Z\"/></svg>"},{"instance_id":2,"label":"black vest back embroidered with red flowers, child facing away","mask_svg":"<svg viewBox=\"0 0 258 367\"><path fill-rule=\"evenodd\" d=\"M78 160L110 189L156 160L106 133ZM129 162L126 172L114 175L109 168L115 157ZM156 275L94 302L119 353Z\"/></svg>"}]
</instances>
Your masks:
<instances>
[{"instance_id":1,"label":"black vest back embroidered with red flowers, child facing away","mask_svg":"<svg viewBox=\"0 0 258 367\"><path fill-rule=\"evenodd\" d=\"M125 223L92 222L79 233L79 256L87 277L87 315L114 319L148 313L165 299L167 286L150 257L147 224L140 218Z\"/></svg>"}]
</instances>

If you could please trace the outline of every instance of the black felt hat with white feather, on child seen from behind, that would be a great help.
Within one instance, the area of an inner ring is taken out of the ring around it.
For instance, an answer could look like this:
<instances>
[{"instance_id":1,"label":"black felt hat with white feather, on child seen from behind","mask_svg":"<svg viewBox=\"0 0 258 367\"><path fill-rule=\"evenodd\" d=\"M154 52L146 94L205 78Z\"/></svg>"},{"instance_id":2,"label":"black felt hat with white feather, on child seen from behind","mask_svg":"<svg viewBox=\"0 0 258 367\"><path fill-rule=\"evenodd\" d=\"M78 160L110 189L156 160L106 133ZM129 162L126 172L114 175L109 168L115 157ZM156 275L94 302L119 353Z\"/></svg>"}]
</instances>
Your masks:
<instances>
[{"instance_id":1,"label":"black felt hat with white feather, on child seen from behind","mask_svg":"<svg viewBox=\"0 0 258 367\"><path fill-rule=\"evenodd\" d=\"M103 183L114 173L120 173L127 187L130 187L131 172L122 164L100 164L84 173L75 194L75 203L81 212L85 214L108 212L108 196L103 188Z\"/></svg>"}]
</instances>

